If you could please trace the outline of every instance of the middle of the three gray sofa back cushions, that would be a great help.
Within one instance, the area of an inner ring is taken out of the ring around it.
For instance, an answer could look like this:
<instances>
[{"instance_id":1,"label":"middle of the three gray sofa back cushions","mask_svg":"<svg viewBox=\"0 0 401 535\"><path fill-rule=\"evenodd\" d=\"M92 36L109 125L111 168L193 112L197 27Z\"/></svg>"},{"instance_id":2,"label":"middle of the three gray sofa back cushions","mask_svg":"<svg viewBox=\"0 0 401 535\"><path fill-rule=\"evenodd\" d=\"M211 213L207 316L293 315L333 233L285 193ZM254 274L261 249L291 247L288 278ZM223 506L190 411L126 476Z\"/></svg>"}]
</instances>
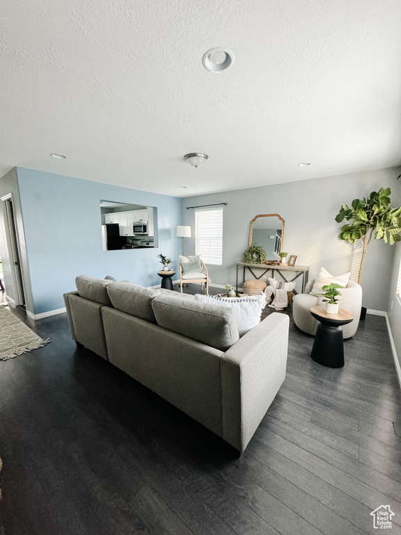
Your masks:
<instances>
[{"instance_id":1,"label":"middle of the three gray sofa back cushions","mask_svg":"<svg viewBox=\"0 0 401 535\"><path fill-rule=\"evenodd\" d=\"M117 310L141 320L156 323L152 299L162 295L159 290L144 288L129 282L113 282L108 288L111 304Z\"/></svg>"}]
</instances>

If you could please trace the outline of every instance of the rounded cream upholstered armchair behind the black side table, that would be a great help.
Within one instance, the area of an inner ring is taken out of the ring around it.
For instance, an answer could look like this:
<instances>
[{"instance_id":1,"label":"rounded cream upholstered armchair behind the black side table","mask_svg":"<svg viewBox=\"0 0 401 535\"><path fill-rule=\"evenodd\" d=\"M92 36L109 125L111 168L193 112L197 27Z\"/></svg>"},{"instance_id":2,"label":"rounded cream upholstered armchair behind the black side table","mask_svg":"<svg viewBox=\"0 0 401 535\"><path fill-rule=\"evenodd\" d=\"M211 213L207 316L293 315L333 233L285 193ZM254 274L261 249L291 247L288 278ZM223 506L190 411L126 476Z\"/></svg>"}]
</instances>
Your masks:
<instances>
[{"instance_id":1,"label":"rounded cream upholstered armchair behind the black side table","mask_svg":"<svg viewBox=\"0 0 401 535\"><path fill-rule=\"evenodd\" d=\"M310 294L313 284L315 284L315 279L306 284L305 293L294 295L294 299L292 300L292 316L295 325L301 331L315 336L319 322L313 318L310 313L310 307L313 307L320 297ZM351 338L356 333L356 329L358 329L359 317L361 316L362 288L358 283L349 281L347 287L341 289L340 292L342 295L338 297L338 306L340 309L349 310L349 312L354 314L354 320L343 326L343 338Z\"/></svg>"}]
</instances>

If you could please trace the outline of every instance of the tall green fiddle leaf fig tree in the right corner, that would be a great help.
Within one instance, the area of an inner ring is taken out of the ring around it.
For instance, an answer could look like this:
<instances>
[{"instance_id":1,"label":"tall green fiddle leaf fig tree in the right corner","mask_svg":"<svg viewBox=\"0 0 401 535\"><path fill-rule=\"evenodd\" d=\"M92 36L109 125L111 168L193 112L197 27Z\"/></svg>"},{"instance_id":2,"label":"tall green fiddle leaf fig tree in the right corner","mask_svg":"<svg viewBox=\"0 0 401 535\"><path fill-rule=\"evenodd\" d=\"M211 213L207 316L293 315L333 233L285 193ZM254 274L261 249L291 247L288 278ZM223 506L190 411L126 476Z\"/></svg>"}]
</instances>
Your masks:
<instances>
[{"instance_id":1,"label":"tall green fiddle leaf fig tree in the right corner","mask_svg":"<svg viewBox=\"0 0 401 535\"><path fill-rule=\"evenodd\" d=\"M344 219L349 223L341 227L340 240L355 243L362 240L362 256L359 265L358 283L361 284L363 263L365 261L366 247L372 237L375 240L384 240L393 245L401 241L401 207L390 207L391 189L381 187L378 192L372 192L369 197L354 199L351 207L343 204L336 216L336 222Z\"/></svg>"}]
</instances>

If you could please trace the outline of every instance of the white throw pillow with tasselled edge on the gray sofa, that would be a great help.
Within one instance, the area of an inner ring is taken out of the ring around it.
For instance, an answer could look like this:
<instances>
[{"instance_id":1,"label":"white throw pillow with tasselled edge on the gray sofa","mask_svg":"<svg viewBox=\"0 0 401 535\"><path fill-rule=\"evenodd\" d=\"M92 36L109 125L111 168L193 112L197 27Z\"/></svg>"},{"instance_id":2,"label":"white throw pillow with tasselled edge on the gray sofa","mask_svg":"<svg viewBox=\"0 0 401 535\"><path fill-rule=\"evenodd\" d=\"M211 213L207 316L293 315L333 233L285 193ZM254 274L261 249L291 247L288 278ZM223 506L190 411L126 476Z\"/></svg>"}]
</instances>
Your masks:
<instances>
[{"instance_id":1,"label":"white throw pillow with tasselled edge on the gray sofa","mask_svg":"<svg viewBox=\"0 0 401 535\"><path fill-rule=\"evenodd\" d=\"M197 293L195 300L233 309L237 318L239 336L242 336L260 323L260 315L266 305L265 295L228 299L219 295L201 295Z\"/></svg>"}]
</instances>

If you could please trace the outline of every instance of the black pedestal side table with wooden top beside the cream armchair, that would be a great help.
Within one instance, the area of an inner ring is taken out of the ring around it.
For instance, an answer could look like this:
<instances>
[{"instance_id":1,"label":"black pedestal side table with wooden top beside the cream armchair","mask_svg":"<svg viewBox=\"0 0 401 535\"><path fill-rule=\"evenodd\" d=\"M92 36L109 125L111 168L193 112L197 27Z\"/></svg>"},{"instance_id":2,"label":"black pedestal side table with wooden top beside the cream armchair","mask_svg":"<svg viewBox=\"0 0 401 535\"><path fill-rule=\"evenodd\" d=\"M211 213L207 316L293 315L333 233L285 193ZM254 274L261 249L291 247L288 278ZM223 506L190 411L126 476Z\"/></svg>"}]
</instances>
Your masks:
<instances>
[{"instance_id":1,"label":"black pedestal side table with wooden top beside the cream armchair","mask_svg":"<svg viewBox=\"0 0 401 535\"><path fill-rule=\"evenodd\" d=\"M337 314L328 314L324 307L316 305L310 309L317 325L315 341L310 357L322 366L342 368L344 366L343 325L351 323L354 314L338 309Z\"/></svg>"}]
</instances>

